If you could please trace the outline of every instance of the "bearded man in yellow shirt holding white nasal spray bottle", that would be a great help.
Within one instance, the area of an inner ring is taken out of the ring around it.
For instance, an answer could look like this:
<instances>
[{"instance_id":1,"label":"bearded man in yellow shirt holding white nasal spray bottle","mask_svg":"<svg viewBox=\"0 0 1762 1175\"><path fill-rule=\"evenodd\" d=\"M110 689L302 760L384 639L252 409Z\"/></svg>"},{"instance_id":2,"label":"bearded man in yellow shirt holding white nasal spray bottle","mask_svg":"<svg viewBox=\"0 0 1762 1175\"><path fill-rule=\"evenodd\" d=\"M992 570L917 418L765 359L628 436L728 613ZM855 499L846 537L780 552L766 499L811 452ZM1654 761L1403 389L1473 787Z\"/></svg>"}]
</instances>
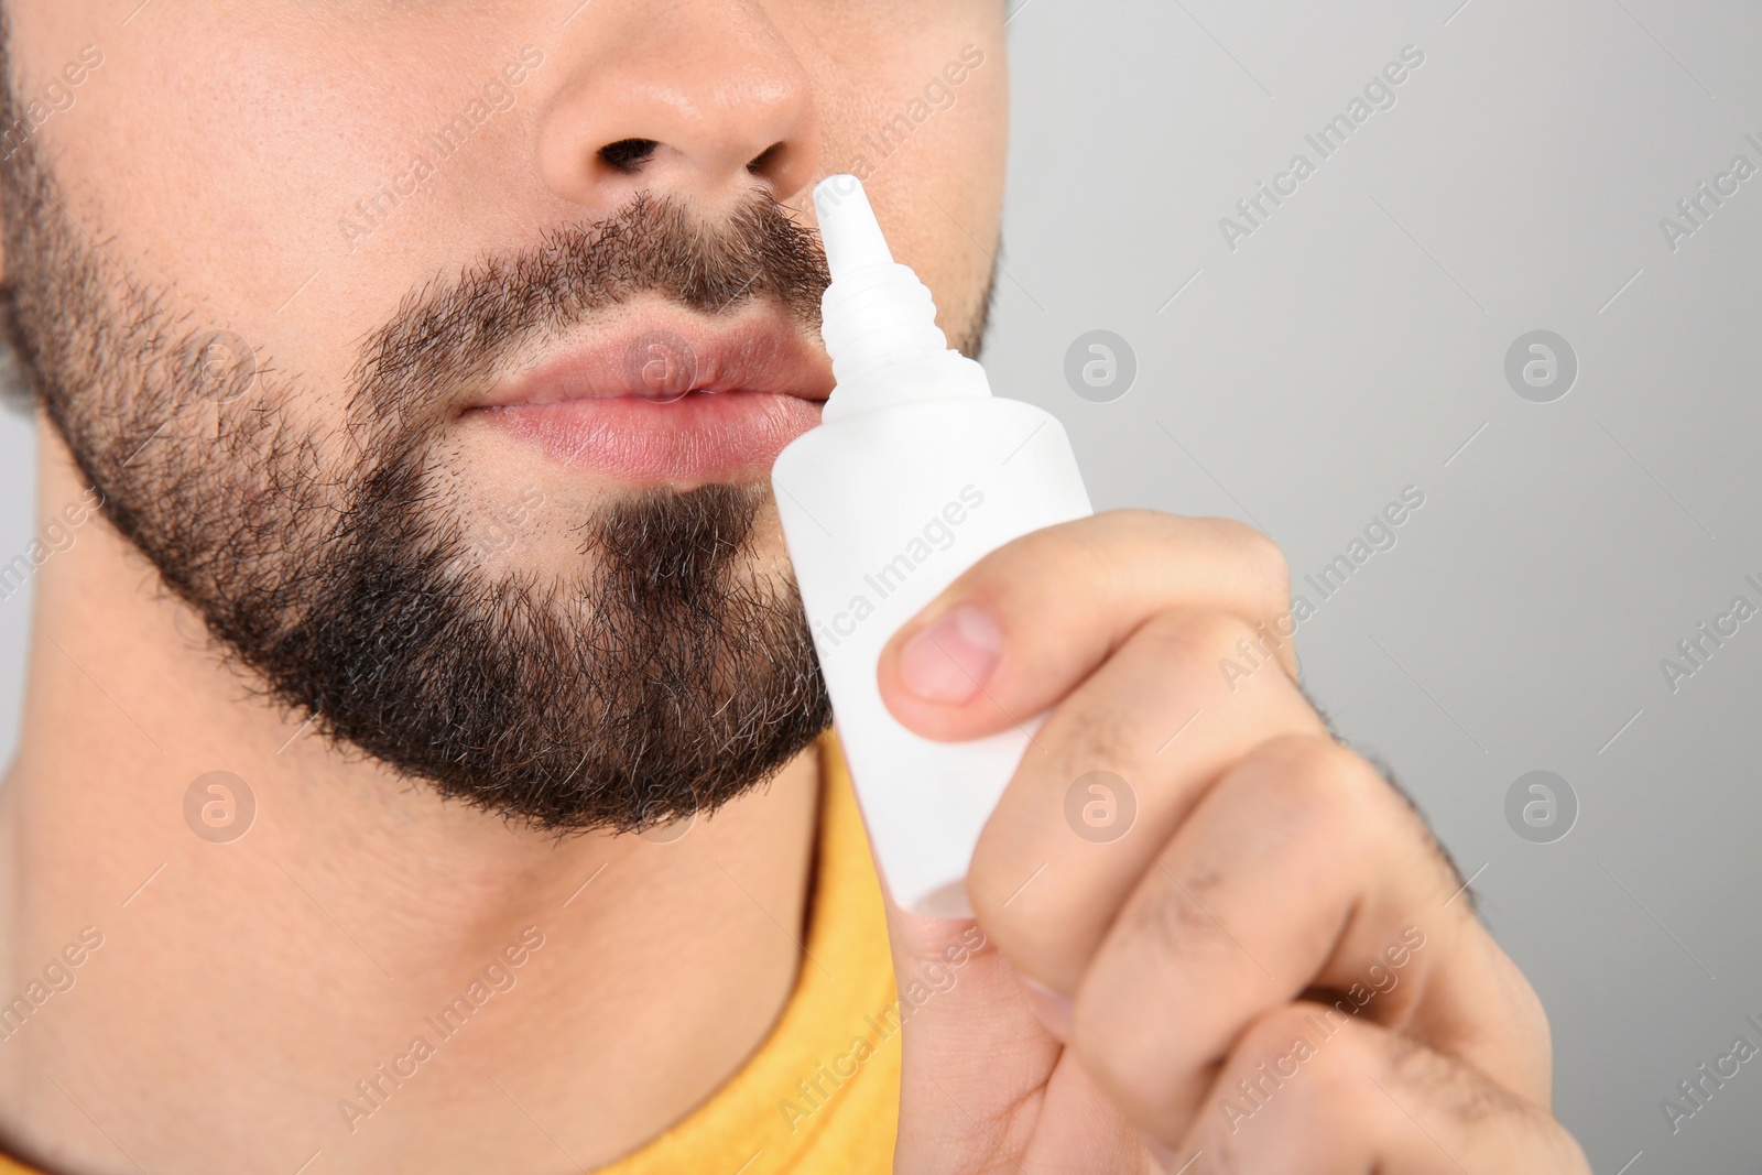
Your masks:
<instances>
[{"instance_id":1,"label":"bearded man in yellow shirt holding white nasal spray bottle","mask_svg":"<svg viewBox=\"0 0 1762 1175\"><path fill-rule=\"evenodd\" d=\"M978 347L996 0L5 12L76 536L0 800L19 1170L1588 1170L1233 523L1031 536L893 639L927 736L1052 715L888 974L766 472L830 391L818 178Z\"/></svg>"}]
</instances>

